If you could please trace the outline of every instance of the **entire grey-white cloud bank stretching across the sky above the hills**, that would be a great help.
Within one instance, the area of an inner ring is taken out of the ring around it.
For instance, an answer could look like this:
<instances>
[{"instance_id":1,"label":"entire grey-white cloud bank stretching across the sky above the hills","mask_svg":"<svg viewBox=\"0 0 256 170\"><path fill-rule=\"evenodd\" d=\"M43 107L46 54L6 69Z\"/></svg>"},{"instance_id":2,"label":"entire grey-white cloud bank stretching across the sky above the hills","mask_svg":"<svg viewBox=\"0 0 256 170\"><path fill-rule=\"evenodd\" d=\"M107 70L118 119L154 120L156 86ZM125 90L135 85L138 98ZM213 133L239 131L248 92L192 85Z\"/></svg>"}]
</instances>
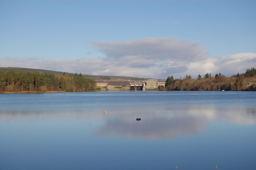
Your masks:
<instances>
[{"instance_id":1,"label":"entire grey-white cloud bank stretching across the sky above the hills","mask_svg":"<svg viewBox=\"0 0 256 170\"><path fill-rule=\"evenodd\" d=\"M0 67L49 69L92 75L120 75L166 79L186 74L222 73L231 76L256 66L256 53L209 57L202 42L172 38L143 38L120 42L92 42L103 55L96 58L42 59L4 57Z\"/></svg>"}]
</instances>

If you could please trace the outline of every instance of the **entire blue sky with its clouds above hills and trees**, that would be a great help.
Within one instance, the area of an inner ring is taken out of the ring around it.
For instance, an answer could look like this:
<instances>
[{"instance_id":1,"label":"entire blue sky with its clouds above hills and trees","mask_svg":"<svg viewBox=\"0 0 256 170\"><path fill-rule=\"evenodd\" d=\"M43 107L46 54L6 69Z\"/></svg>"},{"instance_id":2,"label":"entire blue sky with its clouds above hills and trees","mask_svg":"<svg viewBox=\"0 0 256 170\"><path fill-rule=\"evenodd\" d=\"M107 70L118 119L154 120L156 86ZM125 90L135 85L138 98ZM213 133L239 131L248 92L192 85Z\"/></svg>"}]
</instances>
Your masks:
<instances>
[{"instance_id":1,"label":"entire blue sky with its clouds above hills and trees","mask_svg":"<svg viewBox=\"0 0 256 170\"><path fill-rule=\"evenodd\" d=\"M0 0L0 67L245 73L256 67L256 0Z\"/></svg>"}]
</instances>

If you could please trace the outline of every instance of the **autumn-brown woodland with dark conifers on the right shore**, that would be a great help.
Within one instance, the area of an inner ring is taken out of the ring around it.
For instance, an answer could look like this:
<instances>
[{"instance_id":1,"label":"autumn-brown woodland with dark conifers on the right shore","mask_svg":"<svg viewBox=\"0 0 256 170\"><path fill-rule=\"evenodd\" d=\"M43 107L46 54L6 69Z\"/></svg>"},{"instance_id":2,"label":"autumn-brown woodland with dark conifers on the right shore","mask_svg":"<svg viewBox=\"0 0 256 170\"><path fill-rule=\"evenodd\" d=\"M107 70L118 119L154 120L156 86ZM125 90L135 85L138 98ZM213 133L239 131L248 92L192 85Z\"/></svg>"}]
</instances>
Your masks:
<instances>
[{"instance_id":1,"label":"autumn-brown woodland with dark conifers on the right shore","mask_svg":"<svg viewBox=\"0 0 256 170\"><path fill-rule=\"evenodd\" d=\"M166 79L166 87L160 87L161 91L256 91L256 69L253 67L247 69L246 73L226 77L221 73L212 76L206 73L204 77L198 75L197 79L192 79L190 75L186 75L183 79L174 79L168 76Z\"/></svg>"}]
</instances>

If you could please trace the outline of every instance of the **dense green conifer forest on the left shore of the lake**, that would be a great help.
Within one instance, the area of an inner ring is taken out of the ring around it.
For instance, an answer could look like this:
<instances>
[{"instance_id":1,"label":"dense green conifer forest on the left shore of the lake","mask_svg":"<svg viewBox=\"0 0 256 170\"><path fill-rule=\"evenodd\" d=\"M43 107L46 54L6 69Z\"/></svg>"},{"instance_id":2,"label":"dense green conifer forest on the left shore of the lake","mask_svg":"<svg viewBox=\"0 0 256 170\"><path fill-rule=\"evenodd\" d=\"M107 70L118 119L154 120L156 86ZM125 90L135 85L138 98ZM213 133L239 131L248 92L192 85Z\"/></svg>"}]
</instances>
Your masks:
<instances>
[{"instance_id":1,"label":"dense green conifer forest on the left shore of the lake","mask_svg":"<svg viewBox=\"0 0 256 170\"><path fill-rule=\"evenodd\" d=\"M82 74L57 75L31 71L0 71L0 92L95 90L95 81Z\"/></svg>"}]
</instances>

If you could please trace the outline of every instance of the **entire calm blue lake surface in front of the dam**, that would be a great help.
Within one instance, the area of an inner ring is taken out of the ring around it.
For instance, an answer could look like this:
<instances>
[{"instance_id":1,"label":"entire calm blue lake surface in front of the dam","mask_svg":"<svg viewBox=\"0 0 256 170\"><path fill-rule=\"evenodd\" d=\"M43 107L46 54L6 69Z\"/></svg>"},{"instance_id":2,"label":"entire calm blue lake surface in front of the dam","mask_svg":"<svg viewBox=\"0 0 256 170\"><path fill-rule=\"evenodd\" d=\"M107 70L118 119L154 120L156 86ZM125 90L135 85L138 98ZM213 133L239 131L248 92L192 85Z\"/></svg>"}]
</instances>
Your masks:
<instances>
[{"instance_id":1,"label":"entire calm blue lake surface in front of the dam","mask_svg":"<svg viewBox=\"0 0 256 170\"><path fill-rule=\"evenodd\" d=\"M256 92L0 94L0 169L216 165L256 169Z\"/></svg>"}]
</instances>

